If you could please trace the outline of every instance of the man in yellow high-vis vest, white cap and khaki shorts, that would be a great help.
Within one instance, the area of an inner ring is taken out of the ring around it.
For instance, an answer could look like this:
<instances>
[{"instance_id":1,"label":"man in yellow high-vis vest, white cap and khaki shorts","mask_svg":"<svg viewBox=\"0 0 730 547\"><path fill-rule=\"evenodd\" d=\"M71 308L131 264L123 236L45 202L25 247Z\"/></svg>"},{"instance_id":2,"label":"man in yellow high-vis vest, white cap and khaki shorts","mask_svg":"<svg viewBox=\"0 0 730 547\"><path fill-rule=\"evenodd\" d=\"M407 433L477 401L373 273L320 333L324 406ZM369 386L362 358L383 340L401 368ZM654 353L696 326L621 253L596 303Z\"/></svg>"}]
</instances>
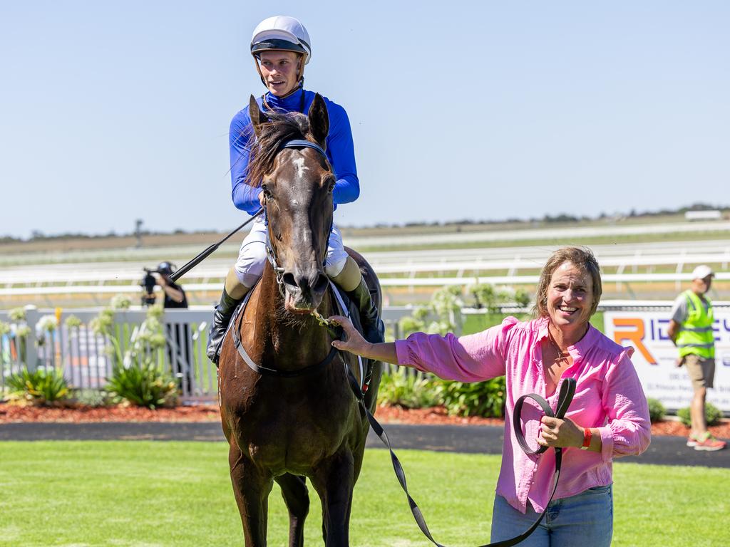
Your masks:
<instances>
[{"instance_id":1,"label":"man in yellow high-vis vest, white cap and khaki shorts","mask_svg":"<svg viewBox=\"0 0 730 547\"><path fill-rule=\"evenodd\" d=\"M692 381L694 396L689 407L692 429L687 446L695 450L721 450L724 441L718 441L707 431L704 400L707 388L715 379L715 333L712 332L712 302L707 298L712 277L710 266L701 265L692 272L692 285L677 296L672 308L672 320L667 333L680 350L677 366L684 365Z\"/></svg>"}]
</instances>

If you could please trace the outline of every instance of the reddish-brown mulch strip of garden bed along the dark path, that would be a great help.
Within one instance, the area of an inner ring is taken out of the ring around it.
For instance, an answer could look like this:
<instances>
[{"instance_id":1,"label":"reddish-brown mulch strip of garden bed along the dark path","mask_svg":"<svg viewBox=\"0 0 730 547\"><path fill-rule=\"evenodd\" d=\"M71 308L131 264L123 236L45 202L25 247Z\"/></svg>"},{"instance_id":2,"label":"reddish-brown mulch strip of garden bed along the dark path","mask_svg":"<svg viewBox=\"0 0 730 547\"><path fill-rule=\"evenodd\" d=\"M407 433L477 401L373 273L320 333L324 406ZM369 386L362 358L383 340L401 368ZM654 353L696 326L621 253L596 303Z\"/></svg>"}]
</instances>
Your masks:
<instances>
[{"instance_id":1,"label":"reddish-brown mulch strip of garden bed along the dark path","mask_svg":"<svg viewBox=\"0 0 730 547\"><path fill-rule=\"evenodd\" d=\"M419 425L496 425L502 426L504 420L499 418L480 418L478 416L449 416L442 407L434 408L401 408L399 406L380 406L377 418L386 424L419 424ZM0 424L24 422L218 422L220 414L218 406L177 406L174 408L139 408L137 406L19 406L0 403ZM666 419L652 424L652 435L686 436L689 432L681 422ZM718 438L730 438L730 420L710 427L712 435Z\"/></svg>"}]
</instances>

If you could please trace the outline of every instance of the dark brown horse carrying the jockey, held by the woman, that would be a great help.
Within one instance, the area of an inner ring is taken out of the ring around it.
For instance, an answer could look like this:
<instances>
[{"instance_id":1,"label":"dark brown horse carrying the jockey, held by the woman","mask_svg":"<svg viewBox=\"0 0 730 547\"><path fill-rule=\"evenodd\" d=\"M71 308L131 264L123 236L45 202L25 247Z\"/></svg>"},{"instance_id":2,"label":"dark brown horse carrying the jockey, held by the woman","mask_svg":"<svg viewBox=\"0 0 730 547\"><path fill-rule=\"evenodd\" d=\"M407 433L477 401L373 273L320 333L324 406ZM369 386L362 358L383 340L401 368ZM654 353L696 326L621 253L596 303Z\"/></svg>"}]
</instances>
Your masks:
<instances>
[{"instance_id":1,"label":"dark brown horse carrying the jockey, held by the woman","mask_svg":"<svg viewBox=\"0 0 730 547\"><path fill-rule=\"evenodd\" d=\"M368 424L345 371L349 366L358 376L357 362L339 352L332 358L331 336L310 313L334 313L324 271L335 181L323 154L327 109L316 96L306 116L264 113L251 97L249 111L256 138L250 180L260 180L264 188L272 260L223 341L219 372L220 416L245 544L266 545L273 481L281 486L289 511L289 546L304 544L309 478L322 503L326 546L347 546ZM292 139L315 147L285 147ZM380 285L372 268L348 252L377 292L374 300L380 308ZM232 334L240 338L253 367ZM256 365L259 372L253 370ZM375 364L366 392L370 411L381 368ZM262 374L266 369L277 373Z\"/></svg>"}]
</instances>

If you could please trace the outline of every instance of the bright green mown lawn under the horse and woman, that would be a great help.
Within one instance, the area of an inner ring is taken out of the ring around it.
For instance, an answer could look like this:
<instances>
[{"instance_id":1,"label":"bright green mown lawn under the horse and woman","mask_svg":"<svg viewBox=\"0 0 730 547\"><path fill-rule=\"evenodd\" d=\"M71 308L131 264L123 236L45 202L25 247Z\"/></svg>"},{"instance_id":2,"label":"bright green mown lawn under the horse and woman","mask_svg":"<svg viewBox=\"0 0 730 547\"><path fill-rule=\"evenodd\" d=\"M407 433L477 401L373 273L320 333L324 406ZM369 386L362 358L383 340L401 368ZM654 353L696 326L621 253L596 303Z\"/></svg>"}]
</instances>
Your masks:
<instances>
[{"instance_id":1,"label":"bright green mown lawn under the horse and woman","mask_svg":"<svg viewBox=\"0 0 730 547\"><path fill-rule=\"evenodd\" d=\"M240 546L225 443L0 443L0 546ZM499 457L400 451L413 497L437 540L489 538ZM615 465L614 546L726 546L730 470ZM307 544L321 545L312 507ZM269 545L288 521L274 485ZM354 497L353 546L429 546L391 469L372 449Z\"/></svg>"}]
</instances>

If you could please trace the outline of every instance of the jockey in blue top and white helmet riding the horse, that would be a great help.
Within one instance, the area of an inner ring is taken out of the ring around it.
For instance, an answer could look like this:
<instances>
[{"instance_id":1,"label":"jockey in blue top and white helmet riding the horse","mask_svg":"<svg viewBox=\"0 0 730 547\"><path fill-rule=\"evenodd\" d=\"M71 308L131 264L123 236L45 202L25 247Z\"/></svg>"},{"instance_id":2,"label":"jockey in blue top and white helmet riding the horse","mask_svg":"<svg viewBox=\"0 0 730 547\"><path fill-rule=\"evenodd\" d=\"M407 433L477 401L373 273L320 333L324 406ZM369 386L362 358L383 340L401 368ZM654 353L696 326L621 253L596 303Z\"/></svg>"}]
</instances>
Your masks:
<instances>
[{"instance_id":1,"label":"jockey in blue top and white helmet riding the horse","mask_svg":"<svg viewBox=\"0 0 730 547\"><path fill-rule=\"evenodd\" d=\"M315 93L304 90L304 66L312 56L310 36L299 20L283 15L264 19L256 26L251 39L251 55L267 93L258 99L262 111L301 112L306 114ZM329 115L327 158L337 176L334 207L355 201L360 185L355 168L355 150L350 120L342 106L324 98ZM248 166L248 143L253 133L248 109L233 117L229 144L231 151L231 186L234 205L255 214L264 203L263 190L245 183ZM215 308L208 333L207 355L218 364L220 344L226 334L236 306L264 273L266 263L266 225L263 215L253 222L243 240L236 264L228 271L220 303ZM333 224L325 263L326 274L342 288L360 310L364 337L373 343L383 341L380 321L368 287L355 260L342 246L342 235Z\"/></svg>"}]
</instances>

